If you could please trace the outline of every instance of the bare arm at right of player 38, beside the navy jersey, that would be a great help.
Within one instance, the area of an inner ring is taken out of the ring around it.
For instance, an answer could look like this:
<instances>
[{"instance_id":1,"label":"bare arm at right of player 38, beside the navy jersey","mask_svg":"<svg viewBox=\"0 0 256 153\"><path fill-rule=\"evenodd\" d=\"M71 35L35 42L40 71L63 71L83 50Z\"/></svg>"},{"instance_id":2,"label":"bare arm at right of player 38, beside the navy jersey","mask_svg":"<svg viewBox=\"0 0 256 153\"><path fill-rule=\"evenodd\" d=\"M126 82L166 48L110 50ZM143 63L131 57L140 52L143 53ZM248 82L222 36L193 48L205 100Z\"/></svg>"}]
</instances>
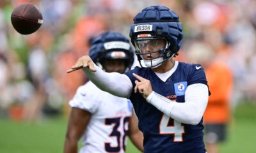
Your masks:
<instances>
[{"instance_id":1,"label":"bare arm at right of player 38, beside the navy jersey","mask_svg":"<svg viewBox=\"0 0 256 153\"><path fill-rule=\"evenodd\" d=\"M128 136L129 136L131 142L139 150L141 150L141 152L143 152L143 133L138 128L138 119L137 119L134 111L132 111L132 116L129 121Z\"/></svg>"}]
</instances>

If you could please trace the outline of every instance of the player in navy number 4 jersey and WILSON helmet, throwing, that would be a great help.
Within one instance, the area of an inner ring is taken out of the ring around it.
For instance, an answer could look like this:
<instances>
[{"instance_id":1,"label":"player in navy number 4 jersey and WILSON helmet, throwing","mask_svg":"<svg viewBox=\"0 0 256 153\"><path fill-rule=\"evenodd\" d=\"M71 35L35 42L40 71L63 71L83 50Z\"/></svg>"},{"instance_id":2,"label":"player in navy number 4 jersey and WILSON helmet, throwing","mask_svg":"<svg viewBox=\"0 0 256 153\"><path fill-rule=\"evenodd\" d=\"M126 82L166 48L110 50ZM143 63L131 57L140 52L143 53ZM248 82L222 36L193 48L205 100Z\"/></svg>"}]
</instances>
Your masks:
<instances>
[{"instance_id":1,"label":"player in navy number 4 jersey and WILSON helmet, throwing","mask_svg":"<svg viewBox=\"0 0 256 153\"><path fill-rule=\"evenodd\" d=\"M182 44L179 16L150 6L134 17L130 37L141 67L106 73L83 56L68 73L83 68L100 89L129 98L144 136L144 152L205 153L202 117L209 98L200 64L175 61Z\"/></svg>"}]
</instances>

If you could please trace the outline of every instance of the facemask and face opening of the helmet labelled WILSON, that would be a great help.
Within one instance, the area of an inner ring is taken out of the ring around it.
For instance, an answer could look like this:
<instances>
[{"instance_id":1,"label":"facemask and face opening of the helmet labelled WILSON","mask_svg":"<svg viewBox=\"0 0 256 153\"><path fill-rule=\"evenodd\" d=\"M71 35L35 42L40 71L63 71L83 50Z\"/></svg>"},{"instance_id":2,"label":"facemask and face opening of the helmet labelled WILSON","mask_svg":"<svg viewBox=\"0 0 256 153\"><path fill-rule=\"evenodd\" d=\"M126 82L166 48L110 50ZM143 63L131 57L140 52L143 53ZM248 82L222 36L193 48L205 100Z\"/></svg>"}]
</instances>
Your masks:
<instances>
[{"instance_id":1,"label":"facemask and face opening of the helmet labelled WILSON","mask_svg":"<svg viewBox=\"0 0 256 153\"><path fill-rule=\"evenodd\" d=\"M143 34L145 36L145 34ZM163 36L151 36L140 38L140 35L134 39L135 54L138 56L141 67L157 68L164 61L172 58L170 53L170 42ZM158 55L157 55L158 54Z\"/></svg>"}]
</instances>

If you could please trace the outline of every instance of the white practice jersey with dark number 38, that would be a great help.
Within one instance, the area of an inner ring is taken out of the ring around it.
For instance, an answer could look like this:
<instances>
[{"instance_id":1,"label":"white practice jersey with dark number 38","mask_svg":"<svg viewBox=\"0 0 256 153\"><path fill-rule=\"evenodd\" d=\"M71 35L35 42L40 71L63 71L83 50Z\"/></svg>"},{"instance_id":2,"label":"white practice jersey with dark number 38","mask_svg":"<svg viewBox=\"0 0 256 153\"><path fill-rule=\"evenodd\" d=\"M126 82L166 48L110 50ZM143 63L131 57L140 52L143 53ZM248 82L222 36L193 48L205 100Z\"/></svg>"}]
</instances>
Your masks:
<instances>
[{"instance_id":1,"label":"white practice jersey with dark number 38","mask_svg":"<svg viewBox=\"0 0 256 153\"><path fill-rule=\"evenodd\" d=\"M84 152L125 152L126 133L132 115L129 99L101 91L92 82L77 89L70 106L92 113L81 137Z\"/></svg>"}]
</instances>

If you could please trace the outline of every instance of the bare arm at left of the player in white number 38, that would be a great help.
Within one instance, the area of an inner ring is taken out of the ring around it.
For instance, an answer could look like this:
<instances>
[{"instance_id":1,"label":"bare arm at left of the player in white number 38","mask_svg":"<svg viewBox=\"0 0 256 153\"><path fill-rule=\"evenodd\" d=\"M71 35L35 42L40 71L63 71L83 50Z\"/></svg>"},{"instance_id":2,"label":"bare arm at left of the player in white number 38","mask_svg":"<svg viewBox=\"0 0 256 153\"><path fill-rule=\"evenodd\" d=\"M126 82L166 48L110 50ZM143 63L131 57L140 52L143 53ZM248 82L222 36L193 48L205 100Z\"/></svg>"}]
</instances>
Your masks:
<instances>
[{"instance_id":1,"label":"bare arm at left of the player in white number 38","mask_svg":"<svg viewBox=\"0 0 256 153\"><path fill-rule=\"evenodd\" d=\"M68 128L65 138L64 152L77 152L77 143L84 133L92 114L79 108L72 108L68 120Z\"/></svg>"}]
</instances>

